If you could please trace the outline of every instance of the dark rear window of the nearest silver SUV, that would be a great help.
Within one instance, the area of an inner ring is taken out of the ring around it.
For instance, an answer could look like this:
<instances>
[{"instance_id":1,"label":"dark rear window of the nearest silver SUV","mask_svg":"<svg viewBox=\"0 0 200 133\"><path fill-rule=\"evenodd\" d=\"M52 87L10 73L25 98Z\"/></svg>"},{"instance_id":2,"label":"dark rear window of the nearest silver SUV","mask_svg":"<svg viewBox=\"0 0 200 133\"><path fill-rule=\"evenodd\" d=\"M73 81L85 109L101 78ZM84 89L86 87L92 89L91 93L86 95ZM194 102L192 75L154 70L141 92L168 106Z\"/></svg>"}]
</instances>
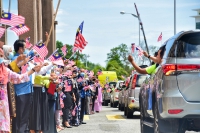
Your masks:
<instances>
[{"instance_id":1,"label":"dark rear window of the nearest silver SUV","mask_svg":"<svg viewBox=\"0 0 200 133\"><path fill-rule=\"evenodd\" d=\"M177 57L200 57L200 33L189 33L180 38L177 46Z\"/></svg>"}]
</instances>

